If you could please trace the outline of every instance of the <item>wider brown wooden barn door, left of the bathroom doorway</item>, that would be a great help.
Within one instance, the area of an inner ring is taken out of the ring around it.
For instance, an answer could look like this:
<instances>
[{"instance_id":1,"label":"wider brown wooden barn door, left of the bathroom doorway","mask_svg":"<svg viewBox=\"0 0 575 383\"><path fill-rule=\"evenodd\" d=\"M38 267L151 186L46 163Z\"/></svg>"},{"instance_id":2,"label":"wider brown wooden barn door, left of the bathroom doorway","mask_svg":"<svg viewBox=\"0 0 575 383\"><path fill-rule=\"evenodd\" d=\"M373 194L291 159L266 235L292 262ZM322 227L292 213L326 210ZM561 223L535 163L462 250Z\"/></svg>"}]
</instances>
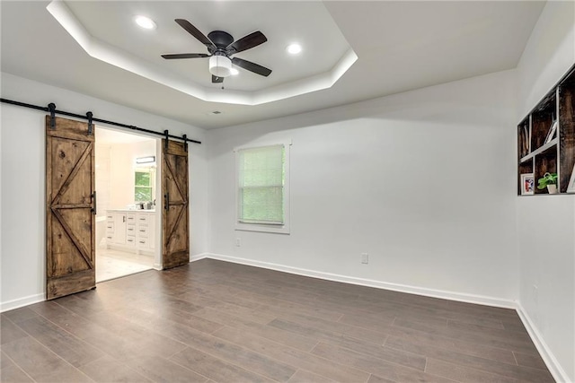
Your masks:
<instances>
[{"instance_id":1,"label":"wider brown wooden barn door, left of the bathroom doorway","mask_svg":"<svg viewBox=\"0 0 575 383\"><path fill-rule=\"evenodd\" d=\"M46 295L95 286L94 135L88 124L46 117Z\"/></svg>"}]
</instances>

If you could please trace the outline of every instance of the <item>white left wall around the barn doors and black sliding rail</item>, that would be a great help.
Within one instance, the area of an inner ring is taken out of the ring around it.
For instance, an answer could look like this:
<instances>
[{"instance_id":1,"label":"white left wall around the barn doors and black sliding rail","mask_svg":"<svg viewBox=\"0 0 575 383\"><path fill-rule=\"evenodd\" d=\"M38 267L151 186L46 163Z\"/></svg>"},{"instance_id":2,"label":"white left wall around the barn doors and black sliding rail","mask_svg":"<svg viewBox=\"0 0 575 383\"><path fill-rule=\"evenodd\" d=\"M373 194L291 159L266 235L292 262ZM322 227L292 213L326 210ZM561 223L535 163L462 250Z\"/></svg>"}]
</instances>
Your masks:
<instances>
[{"instance_id":1,"label":"white left wall around the barn doors and black sliding rail","mask_svg":"<svg viewBox=\"0 0 575 383\"><path fill-rule=\"evenodd\" d=\"M2 74L2 97L105 118L204 141L205 131L136 109L93 99L43 83ZM1 310L43 300L45 292L45 113L0 104ZM206 145L190 144L190 254L207 251Z\"/></svg>"}]
</instances>

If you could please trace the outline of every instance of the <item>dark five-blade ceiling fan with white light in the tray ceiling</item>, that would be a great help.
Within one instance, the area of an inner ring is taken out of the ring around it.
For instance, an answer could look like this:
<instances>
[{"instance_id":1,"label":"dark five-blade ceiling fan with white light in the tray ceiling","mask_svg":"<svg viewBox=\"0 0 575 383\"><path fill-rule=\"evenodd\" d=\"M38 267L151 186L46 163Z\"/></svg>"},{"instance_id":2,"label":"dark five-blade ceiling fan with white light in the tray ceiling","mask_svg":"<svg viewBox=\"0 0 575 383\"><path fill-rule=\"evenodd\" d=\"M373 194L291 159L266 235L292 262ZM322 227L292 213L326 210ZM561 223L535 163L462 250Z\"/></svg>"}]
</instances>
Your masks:
<instances>
[{"instance_id":1,"label":"dark five-blade ceiling fan with white light in the tray ceiling","mask_svg":"<svg viewBox=\"0 0 575 383\"><path fill-rule=\"evenodd\" d=\"M209 72L212 74L212 83L223 83L224 78L232 74L232 64L246 69L254 74L261 74L262 76L269 76L271 69L261 66L251 61L244 60L239 57L231 57L236 53L243 52L244 50L254 48L263 44L268 39L261 33L260 30L244 36L242 39L234 41L234 38L229 33L223 30L213 30L208 33L206 37L196 27L191 25L190 22L184 19L176 19L181 28L187 30L190 35L199 40L208 48L207 53L177 53L172 55L162 55L167 60L178 58L201 58L209 57Z\"/></svg>"}]
</instances>

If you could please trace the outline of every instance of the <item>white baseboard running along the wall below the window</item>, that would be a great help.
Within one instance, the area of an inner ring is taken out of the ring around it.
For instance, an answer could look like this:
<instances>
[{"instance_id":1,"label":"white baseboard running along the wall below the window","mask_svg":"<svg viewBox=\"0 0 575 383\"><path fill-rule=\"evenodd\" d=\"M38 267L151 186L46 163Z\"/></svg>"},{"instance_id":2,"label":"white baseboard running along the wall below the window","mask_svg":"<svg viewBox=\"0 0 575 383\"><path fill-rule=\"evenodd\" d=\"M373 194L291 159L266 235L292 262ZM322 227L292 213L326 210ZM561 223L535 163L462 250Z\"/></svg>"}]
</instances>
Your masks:
<instances>
[{"instance_id":1,"label":"white baseboard running along the wall below the window","mask_svg":"<svg viewBox=\"0 0 575 383\"><path fill-rule=\"evenodd\" d=\"M447 292L443 290L426 289L423 287L409 286L398 283L386 283L382 281L375 281L371 279L357 278L353 276L346 276L341 274L323 273L314 270L307 270L288 265L278 265L268 262L254 261L252 259L229 257L221 254L202 254L203 258L218 259L221 261L232 262L235 264L252 265L270 270L281 271L290 274L298 274L311 276L314 278L325 279L328 281L358 284L360 286L375 287L376 289L392 290L394 292L408 292L410 294L423 295L426 297L440 298L444 300L457 300L467 303L475 303L485 306L500 307L505 309L516 309L517 304L515 300L504 300L500 298L487 297L483 295L466 294L463 292Z\"/></svg>"}]
</instances>

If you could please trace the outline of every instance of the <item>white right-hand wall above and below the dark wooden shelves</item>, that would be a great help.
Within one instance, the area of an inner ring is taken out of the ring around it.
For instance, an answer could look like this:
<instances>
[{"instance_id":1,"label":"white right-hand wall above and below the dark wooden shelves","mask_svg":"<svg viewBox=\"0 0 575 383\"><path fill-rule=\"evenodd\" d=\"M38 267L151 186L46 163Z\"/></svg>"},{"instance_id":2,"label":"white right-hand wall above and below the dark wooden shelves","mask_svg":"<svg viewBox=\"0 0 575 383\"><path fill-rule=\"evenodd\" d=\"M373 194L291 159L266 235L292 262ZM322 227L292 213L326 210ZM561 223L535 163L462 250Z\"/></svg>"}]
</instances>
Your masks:
<instances>
[{"instance_id":1,"label":"white right-hand wall above and below the dark wooden shelves","mask_svg":"<svg viewBox=\"0 0 575 383\"><path fill-rule=\"evenodd\" d=\"M575 63L575 3L548 2L517 66L517 123ZM517 198L519 303L556 366L575 381L575 196Z\"/></svg>"}]
</instances>

